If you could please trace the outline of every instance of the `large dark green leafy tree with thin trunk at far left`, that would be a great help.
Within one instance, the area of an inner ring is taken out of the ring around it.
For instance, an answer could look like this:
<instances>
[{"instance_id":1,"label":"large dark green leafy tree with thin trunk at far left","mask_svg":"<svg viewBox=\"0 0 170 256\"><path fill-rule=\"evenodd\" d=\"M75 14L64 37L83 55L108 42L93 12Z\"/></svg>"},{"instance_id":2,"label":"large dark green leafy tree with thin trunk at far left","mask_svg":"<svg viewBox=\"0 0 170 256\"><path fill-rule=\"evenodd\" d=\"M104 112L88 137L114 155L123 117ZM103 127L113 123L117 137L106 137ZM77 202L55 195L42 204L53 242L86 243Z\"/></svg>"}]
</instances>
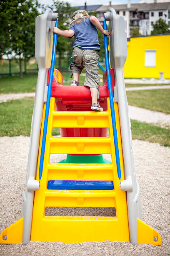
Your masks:
<instances>
[{"instance_id":1,"label":"large dark green leafy tree with thin trunk at far left","mask_svg":"<svg viewBox=\"0 0 170 256\"><path fill-rule=\"evenodd\" d=\"M40 4L37 0L2 0L2 7L7 25L3 25L1 31L8 36L6 46L3 40L1 52L13 53L14 57L19 58L20 77L23 77L22 59L35 56L35 19L40 14Z\"/></svg>"}]
</instances>

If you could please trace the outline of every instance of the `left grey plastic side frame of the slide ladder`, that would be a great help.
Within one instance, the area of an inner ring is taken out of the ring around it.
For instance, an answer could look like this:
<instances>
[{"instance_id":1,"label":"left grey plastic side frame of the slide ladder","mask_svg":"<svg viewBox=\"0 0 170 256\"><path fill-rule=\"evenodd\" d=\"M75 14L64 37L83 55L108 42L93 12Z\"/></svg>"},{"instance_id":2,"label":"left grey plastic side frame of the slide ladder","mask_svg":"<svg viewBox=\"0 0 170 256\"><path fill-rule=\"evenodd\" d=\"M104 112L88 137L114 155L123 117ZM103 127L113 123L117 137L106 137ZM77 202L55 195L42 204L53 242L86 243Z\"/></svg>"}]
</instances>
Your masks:
<instances>
[{"instance_id":1,"label":"left grey plastic side frame of the slide ladder","mask_svg":"<svg viewBox=\"0 0 170 256\"><path fill-rule=\"evenodd\" d=\"M31 124L26 188L23 195L23 244L28 244L30 241L34 191L39 189L39 181L35 179L37 173L37 156L40 142L42 110L47 98L47 69L50 68L52 55L52 29L55 26L56 19L57 13L53 13L51 9L47 9L44 14L37 16L36 19L35 57L38 64L38 77Z\"/></svg>"}]
</instances>

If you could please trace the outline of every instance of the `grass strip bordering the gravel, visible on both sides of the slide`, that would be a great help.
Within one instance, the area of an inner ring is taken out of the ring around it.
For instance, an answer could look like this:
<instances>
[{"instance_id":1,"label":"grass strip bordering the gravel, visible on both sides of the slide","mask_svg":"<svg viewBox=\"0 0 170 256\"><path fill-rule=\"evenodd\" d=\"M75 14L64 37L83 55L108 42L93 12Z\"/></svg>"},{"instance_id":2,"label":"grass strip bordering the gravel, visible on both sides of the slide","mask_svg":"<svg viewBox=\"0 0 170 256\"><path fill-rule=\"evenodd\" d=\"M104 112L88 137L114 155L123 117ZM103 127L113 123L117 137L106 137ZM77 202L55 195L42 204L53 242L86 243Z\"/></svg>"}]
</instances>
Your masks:
<instances>
[{"instance_id":1,"label":"grass strip bordering the gravel, visible on both sides of the slide","mask_svg":"<svg viewBox=\"0 0 170 256\"><path fill-rule=\"evenodd\" d=\"M0 136L30 136L34 98L0 103ZM131 120L133 139L170 146L170 130ZM59 128L53 135L59 134Z\"/></svg>"}]
</instances>

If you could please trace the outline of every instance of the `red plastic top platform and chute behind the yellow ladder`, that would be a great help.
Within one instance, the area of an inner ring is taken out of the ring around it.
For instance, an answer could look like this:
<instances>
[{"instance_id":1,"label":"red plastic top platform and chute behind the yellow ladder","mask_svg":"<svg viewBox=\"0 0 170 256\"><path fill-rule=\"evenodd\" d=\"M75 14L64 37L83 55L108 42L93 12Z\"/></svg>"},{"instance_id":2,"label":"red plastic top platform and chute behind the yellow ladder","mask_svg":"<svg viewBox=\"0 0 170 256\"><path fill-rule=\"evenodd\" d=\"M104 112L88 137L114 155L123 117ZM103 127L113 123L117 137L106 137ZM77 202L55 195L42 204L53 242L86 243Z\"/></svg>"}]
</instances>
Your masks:
<instances>
[{"instance_id":1,"label":"red plastic top platform and chute behind the yellow ladder","mask_svg":"<svg viewBox=\"0 0 170 256\"><path fill-rule=\"evenodd\" d=\"M48 71L48 80L50 69ZM115 86L114 69L111 69L112 87ZM103 85L99 86L100 106L107 110L109 97L107 74L103 74ZM71 81L70 81L71 82ZM114 93L114 92L113 92ZM51 97L55 97L58 111L91 111L91 93L87 86L65 86L61 73L55 69L52 80ZM60 128L62 137L107 137L107 128Z\"/></svg>"}]
</instances>

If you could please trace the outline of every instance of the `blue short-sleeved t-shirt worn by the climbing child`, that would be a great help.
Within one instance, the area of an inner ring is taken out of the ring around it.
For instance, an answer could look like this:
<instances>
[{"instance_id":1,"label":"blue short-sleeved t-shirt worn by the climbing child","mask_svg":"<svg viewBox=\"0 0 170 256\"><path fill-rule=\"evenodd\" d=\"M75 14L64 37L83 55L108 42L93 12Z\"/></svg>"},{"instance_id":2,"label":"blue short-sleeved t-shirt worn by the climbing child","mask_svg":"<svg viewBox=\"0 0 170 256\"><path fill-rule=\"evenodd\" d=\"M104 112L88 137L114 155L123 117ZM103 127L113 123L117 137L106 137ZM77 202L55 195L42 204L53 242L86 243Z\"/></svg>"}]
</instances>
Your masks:
<instances>
[{"instance_id":1,"label":"blue short-sleeved t-shirt worn by the climbing child","mask_svg":"<svg viewBox=\"0 0 170 256\"><path fill-rule=\"evenodd\" d=\"M93 46L100 47L97 28L90 22L90 17L87 17L82 23L73 24L69 30L74 31L75 41L73 48L76 46Z\"/></svg>"}]
</instances>

